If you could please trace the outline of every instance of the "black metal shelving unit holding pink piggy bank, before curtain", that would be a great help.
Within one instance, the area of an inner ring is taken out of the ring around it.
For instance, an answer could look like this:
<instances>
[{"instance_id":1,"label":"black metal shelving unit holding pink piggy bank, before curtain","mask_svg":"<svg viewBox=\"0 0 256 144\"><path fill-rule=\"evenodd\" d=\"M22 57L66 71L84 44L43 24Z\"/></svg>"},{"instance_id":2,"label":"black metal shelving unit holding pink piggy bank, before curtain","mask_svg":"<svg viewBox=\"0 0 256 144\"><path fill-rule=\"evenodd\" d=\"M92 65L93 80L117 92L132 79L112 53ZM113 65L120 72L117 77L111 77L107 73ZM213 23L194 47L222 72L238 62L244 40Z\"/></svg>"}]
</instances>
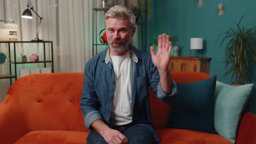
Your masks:
<instances>
[{"instance_id":1,"label":"black metal shelving unit holding pink piggy bank, before curtain","mask_svg":"<svg viewBox=\"0 0 256 144\"><path fill-rule=\"evenodd\" d=\"M46 63L51 63L51 71L52 73L54 73L54 63L53 63L53 41L0 41L0 43L6 43L8 44L8 51L9 51L9 74L4 74L4 75L0 75L0 79L10 79L10 84L12 83L12 79L14 78L15 81L17 80L17 64L28 64L28 63L44 63L44 67L46 68ZM43 60L40 60L40 61L37 61L37 62L30 62L30 61L27 61L27 62L20 62L20 61L17 61L17 55L16 55L16 44L17 43L40 43L40 44L43 44L43 55L44 55L44 59ZM46 53L45 53L45 44L50 44L50 47L49 47L49 51L51 51L51 57L50 59L46 59ZM11 44L13 45L13 56L14 58L11 59ZM14 64L14 73L15 74L12 74L11 73L11 64Z\"/></svg>"}]
</instances>

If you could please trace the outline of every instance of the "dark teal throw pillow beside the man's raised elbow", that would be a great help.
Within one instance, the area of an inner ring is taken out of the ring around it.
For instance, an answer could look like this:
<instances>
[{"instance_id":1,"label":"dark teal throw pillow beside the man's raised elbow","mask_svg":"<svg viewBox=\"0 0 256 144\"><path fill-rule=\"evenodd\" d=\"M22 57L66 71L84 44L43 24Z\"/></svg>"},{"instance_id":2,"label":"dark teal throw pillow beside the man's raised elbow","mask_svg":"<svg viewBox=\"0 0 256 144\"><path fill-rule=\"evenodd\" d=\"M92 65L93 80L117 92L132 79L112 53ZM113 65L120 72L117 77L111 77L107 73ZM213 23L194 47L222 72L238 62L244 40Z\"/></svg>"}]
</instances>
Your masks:
<instances>
[{"instance_id":1,"label":"dark teal throw pillow beside the man's raised elbow","mask_svg":"<svg viewBox=\"0 0 256 144\"><path fill-rule=\"evenodd\" d=\"M167 128L190 129L216 134L213 95L216 76L202 81L177 83L178 94L171 105Z\"/></svg>"}]
</instances>

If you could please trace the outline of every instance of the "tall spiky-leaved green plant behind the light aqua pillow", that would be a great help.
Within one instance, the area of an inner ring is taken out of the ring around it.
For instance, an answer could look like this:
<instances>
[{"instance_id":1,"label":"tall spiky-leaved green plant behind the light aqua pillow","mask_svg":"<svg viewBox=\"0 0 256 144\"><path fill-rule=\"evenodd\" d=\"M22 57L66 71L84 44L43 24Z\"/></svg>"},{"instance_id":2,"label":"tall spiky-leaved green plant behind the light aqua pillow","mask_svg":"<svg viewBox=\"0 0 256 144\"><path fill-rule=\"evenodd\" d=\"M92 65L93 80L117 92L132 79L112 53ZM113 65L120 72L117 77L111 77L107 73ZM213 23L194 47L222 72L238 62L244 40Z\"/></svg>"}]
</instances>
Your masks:
<instances>
[{"instance_id":1,"label":"tall spiky-leaved green plant behind the light aqua pillow","mask_svg":"<svg viewBox=\"0 0 256 144\"><path fill-rule=\"evenodd\" d=\"M224 38L220 41L220 47L225 47L225 67L224 77L232 74L236 75L236 83L231 85L244 85L243 78L247 81L249 74L249 58L256 61L255 49L255 28L241 27L243 15L234 27L224 32Z\"/></svg>"}]
</instances>

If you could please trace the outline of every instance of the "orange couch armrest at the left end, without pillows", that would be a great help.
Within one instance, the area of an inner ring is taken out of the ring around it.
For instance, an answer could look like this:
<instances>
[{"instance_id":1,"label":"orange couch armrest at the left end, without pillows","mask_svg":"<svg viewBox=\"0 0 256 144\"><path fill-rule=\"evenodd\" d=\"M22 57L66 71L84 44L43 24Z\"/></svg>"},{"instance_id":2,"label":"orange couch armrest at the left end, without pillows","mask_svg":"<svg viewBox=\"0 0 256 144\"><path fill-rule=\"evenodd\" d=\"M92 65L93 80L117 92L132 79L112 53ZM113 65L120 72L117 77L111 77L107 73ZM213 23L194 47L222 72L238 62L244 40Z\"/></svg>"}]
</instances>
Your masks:
<instances>
[{"instance_id":1,"label":"orange couch armrest at the left end, without pillows","mask_svg":"<svg viewBox=\"0 0 256 144\"><path fill-rule=\"evenodd\" d=\"M0 141L14 143L26 134L26 123L19 104L10 105L11 95L6 95L0 105ZM9 99L10 98L10 99Z\"/></svg>"}]
</instances>

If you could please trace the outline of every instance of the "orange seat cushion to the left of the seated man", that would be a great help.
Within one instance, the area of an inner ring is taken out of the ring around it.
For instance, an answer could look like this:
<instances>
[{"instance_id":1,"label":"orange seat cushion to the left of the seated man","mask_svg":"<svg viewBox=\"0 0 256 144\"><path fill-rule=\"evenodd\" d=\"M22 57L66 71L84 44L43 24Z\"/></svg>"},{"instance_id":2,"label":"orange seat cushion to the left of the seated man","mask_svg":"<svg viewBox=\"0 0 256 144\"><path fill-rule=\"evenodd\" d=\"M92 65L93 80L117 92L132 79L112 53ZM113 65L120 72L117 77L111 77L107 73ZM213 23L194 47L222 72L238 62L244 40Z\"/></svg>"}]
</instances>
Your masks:
<instances>
[{"instance_id":1,"label":"orange seat cushion to the left of the seated man","mask_svg":"<svg viewBox=\"0 0 256 144\"><path fill-rule=\"evenodd\" d=\"M86 144L87 132L79 131L32 131L22 136L15 144L72 143Z\"/></svg>"}]
</instances>

